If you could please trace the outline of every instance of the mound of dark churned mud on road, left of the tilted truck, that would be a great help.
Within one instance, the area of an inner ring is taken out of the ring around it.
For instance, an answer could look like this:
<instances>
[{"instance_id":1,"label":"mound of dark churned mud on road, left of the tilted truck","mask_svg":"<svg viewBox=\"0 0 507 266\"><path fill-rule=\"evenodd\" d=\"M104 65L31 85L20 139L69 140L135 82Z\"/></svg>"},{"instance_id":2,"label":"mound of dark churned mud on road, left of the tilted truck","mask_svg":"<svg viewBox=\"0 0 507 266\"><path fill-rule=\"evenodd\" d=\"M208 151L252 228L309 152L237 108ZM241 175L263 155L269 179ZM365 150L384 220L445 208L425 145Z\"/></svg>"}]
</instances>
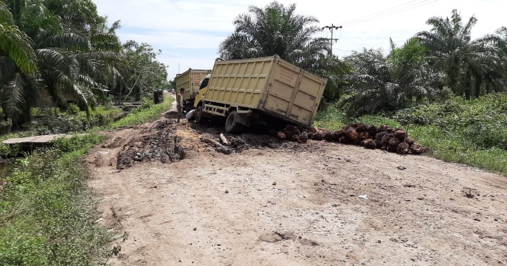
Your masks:
<instances>
[{"instance_id":1,"label":"mound of dark churned mud on road, left of the tilted truck","mask_svg":"<svg viewBox=\"0 0 507 266\"><path fill-rule=\"evenodd\" d=\"M123 146L118 153L117 169L143 162L174 163L185 158L187 151L180 145L180 137L168 129L157 128L159 130L134 137Z\"/></svg>"}]
</instances>

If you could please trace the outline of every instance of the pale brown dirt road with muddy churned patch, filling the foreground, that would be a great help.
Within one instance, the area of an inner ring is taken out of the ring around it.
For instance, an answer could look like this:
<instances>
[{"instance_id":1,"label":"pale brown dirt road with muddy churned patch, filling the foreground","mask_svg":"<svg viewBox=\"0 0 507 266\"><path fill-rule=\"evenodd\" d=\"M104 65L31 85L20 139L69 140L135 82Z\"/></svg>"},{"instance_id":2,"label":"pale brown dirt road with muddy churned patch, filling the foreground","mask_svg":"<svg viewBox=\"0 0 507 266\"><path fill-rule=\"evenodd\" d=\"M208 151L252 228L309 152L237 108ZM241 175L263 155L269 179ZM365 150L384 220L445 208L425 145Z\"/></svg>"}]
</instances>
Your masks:
<instances>
[{"instance_id":1,"label":"pale brown dirt road with muddy churned patch, filling the foreground","mask_svg":"<svg viewBox=\"0 0 507 266\"><path fill-rule=\"evenodd\" d=\"M506 177L265 135L225 155L199 140L220 129L174 122L87 158L121 246L108 265L507 265Z\"/></svg>"}]
</instances>

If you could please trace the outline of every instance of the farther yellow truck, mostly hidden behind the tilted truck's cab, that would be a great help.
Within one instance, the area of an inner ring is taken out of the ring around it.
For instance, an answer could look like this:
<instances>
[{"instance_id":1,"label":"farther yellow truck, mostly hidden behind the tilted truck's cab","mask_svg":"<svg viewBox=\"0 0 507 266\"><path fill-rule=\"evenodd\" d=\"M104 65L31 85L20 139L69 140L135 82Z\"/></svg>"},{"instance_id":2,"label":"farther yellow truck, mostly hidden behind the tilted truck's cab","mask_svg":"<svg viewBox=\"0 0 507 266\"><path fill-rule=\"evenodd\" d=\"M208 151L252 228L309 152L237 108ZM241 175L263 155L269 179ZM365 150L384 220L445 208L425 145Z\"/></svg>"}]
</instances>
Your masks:
<instances>
[{"instance_id":1,"label":"farther yellow truck, mostly hidden behind the tilted truck's cab","mask_svg":"<svg viewBox=\"0 0 507 266\"><path fill-rule=\"evenodd\" d=\"M185 89L183 94L183 108L190 110L194 108L194 99L199 91L199 83L201 80L211 73L211 70L196 70L189 68L189 70L177 74L175 77L176 94L180 93L180 89Z\"/></svg>"}]
</instances>

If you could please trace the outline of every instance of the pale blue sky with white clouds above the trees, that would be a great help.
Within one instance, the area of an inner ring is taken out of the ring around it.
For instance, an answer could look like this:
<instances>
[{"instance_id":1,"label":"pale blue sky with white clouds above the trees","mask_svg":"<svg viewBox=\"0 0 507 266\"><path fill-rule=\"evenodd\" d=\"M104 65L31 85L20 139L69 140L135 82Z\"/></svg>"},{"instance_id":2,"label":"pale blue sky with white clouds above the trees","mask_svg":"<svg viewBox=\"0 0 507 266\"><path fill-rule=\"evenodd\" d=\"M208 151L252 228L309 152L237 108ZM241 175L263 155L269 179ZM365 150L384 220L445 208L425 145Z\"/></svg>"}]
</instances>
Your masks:
<instances>
[{"instance_id":1,"label":"pale blue sky with white clouds above the trees","mask_svg":"<svg viewBox=\"0 0 507 266\"><path fill-rule=\"evenodd\" d=\"M271 1L225 0L94 0L99 15L108 23L121 20L117 31L122 42L133 39L161 49L158 61L168 66L168 78L189 68L211 69L218 57L218 46L233 30L232 21L246 13L251 5L264 7ZM422 30L430 30L425 21L432 16L446 17L458 9L468 20L475 15L477 25L472 37L493 33L501 26L507 7L505 0L362 0L301 1L279 0L296 4L296 13L313 15L319 26L344 25L334 31L333 53L347 56L365 48L389 50L389 37L403 44ZM382 12L384 11L384 12ZM318 37L331 37L323 30Z\"/></svg>"}]
</instances>

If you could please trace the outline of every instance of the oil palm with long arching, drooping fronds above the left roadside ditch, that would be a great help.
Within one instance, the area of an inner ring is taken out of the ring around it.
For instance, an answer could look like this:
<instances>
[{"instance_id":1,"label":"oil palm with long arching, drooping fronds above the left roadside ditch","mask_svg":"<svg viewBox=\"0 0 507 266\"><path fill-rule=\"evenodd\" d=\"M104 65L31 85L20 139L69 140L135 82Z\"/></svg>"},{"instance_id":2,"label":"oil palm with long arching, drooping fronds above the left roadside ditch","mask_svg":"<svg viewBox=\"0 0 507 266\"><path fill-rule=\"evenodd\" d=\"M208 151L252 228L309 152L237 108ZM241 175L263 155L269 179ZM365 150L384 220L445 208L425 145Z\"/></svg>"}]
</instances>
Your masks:
<instances>
[{"instance_id":1,"label":"oil palm with long arching, drooping fronds above the left roadside ditch","mask_svg":"<svg viewBox=\"0 0 507 266\"><path fill-rule=\"evenodd\" d=\"M121 49L114 31L46 37L37 49L45 89L59 108L66 108L63 94L73 96L81 110L94 108L118 80L115 66L125 63Z\"/></svg>"}]
</instances>

